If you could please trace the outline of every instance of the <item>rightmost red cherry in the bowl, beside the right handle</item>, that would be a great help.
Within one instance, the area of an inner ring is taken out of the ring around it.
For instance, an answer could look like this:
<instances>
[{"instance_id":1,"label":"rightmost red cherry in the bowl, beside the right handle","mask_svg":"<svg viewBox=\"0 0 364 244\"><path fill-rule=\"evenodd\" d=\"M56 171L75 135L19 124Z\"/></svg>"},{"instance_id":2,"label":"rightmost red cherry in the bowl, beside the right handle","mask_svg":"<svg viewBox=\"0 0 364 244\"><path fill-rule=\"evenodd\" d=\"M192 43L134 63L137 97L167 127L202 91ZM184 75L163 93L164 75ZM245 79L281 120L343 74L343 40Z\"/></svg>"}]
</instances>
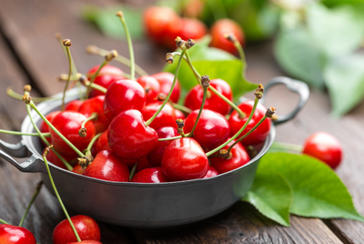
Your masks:
<instances>
[{"instance_id":1,"label":"rightmost red cherry in the bowl, beside the right handle","mask_svg":"<svg viewBox=\"0 0 364 244\"><path fill-rule=\"evenodd\" d=\"M231 113L230 118L228 119L228 123L230 125L230 136L233 137L241 127L244 126L245 122L248 120L248 117L253 109L254 101L248 100L244 103L240 104L238 107L246 114L246 117L240 119L237 111L233 111ZM240 134L240 137L245 135L251 128L255 127L259 120L264 117L267 109L263 107L261 104L258 104L256 111L254 112L253 117L249 121L248 127L244 129L244 131ZM270 118L264 120L264 122L258 126L248 137L245 137L241 143L243 145L256 145L263 142L266 137L269 135L270 130Z\"/></svg>"}]
</instances>

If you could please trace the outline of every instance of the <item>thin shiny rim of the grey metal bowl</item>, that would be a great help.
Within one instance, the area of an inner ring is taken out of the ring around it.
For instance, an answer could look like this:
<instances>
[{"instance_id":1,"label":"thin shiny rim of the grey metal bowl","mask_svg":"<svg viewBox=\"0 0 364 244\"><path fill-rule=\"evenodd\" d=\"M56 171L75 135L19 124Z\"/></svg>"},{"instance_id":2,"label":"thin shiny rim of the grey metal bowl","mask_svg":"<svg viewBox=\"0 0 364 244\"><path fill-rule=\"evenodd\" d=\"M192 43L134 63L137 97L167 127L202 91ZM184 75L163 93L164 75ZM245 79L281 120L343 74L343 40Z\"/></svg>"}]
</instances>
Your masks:
<instances>
[{"instance_id":1,"label":"thin shiny rim of the grey metal bowl","mask_svg":"<svg viewBox=\"0 0 364 244\"><path fill-rule=\"evenodd\" d=\"M61 97L62 94L56 94L54 97L55 98L59 98ZM66 96L66 102L69 102L71 100L75 100L77 99L78 96L78 91L76 91L76 88L71 89L67 92L67 96ZM56 107L59 107L61 105L61 101L59 99L57 100L48 100L45 102L42 102L40 104L37 105L38 109L40 111L45 111L45 114L55 110ZM33 120L35 122L35 124L39 124L39 122L41 121L41 117L39 117L36 112L34 110L32 110L31 115L33 117ZM33 132L34 131L34 127L30 121L30 118L28 116L25 117L25 119L23 120L22 123L22 127L21 127L21 131L22 132ZM260 158L262 158L267 152L268 149L270 148L270 146L272 145L274 138L276 137L276 128L273 124L273 122L271 121L271 127L270 127L270 131L268 134L268 137L266 138L263 147L261 148L261 150L258 152L258 155L256 155L254 158L251 158L247 164L239 167L239 168L235 168L233 170L230 170L228 172L219 174L215 177L212 178L195 178L195 179L188 179L188 180L180 180L180 181L172 181L172 182L162 182L162 183L139 183L139 182L130 182L130 181L108 181L105 179L100 179L100 178L91 178L91 177L87 177L84 175L80 175L77 174L75 172L69 171L65 168L60 168L56 165L54 165L52 162L48 162L49 165L52 168L55 168L59 171L61 171L64 174L70 175L72 177L76 177L76 178L80 178L80 179L84 179L87 181L92 181L92 182L96 182L96 183L103 183L106 185L112 185L112 186L127 186L127 187L142 187L142 188L155 188L155 187L173 187L173 186L183 186L183 185L188 185L188 184L195 184L198 182L207 182L209 180L215 180L217 178L226 178L232 174L235 174L236 172L238 172L239 170L246 168L254 163L258 163L258 160ZM35 137L36 139L37 137ZM44 163L43 158L41 156L41 154L38 152L38 150L35 148L35 145L33 143L33 139L34 137L30 137L30 136L22 136L22 143L23 145L25 145L25 147L27 148L27 150L33 154L33 156L35 158L37 158L38 160L40 160L42 163Z\"/></svg>"}]
</instances>

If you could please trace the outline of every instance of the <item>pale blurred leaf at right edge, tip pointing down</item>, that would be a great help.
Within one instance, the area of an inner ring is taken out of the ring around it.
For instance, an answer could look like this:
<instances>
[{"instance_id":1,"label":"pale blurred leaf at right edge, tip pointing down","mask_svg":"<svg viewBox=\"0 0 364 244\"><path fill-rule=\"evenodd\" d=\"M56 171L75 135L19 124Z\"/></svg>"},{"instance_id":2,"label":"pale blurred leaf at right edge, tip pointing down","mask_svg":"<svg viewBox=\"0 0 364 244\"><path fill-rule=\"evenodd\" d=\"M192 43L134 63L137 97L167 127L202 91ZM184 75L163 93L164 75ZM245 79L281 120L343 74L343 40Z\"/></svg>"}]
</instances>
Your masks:
<instances>
[{"instance_id":1,"label":"pale blurred leaf at right edge, tip pointing down","mask_svg":"<svg viewBox=\"0 0 364 244\"><path fill-rule=\"evenodd\" d=\"M364 97L364 56L350 55L332 60L324 71L332 104L331 114L340 117Z\"/></svg>"}]
</instances>

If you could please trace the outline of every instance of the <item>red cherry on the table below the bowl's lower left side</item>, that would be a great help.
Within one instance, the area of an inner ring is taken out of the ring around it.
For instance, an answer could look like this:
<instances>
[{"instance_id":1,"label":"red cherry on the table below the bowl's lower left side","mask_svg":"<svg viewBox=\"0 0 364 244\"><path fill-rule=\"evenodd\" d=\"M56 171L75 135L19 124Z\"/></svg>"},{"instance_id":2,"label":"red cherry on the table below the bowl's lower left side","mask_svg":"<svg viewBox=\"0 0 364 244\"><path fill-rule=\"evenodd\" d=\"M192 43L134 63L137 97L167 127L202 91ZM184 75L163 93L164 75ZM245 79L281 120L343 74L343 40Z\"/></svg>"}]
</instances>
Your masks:
<instances>
[{"instance_id":1,"label":"red cherry on the table below the bowl's lower left side","mask_svg":"<svg viewBox=\"0 0 364 244\"><path fill-rule=\"evenodd\" d=\"M101 240L100 229L96 221L86 215L76 215L71 217L72 223L75 225L78 236L81 240ZM68 242L77 242L74 231L68 222L64 219L53 230L53 244L67 244ZM80 243L80 242L77 242Z\"/></svg>"}]
</instances>

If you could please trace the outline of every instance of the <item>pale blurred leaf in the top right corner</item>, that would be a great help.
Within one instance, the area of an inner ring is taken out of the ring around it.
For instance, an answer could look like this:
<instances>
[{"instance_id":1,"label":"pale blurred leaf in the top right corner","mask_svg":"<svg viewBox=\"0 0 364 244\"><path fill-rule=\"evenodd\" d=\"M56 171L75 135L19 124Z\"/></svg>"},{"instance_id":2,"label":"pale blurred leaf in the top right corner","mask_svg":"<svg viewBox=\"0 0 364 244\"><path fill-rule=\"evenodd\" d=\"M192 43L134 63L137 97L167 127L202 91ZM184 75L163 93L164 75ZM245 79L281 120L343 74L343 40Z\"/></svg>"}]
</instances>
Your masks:
<instances>
[{"instance_id":1,"label":"pale blurred leaf in the top right corner","mask_svg":"<svg viewBox=\"0 0 364 244\"><path fill-rule=\"evenodd\" d=\"M328 57L343 56L359 48L364 38L364 18L352 6L333 9L313 3L307 9L310 42Z\"/></svg>"}]
</instances>

